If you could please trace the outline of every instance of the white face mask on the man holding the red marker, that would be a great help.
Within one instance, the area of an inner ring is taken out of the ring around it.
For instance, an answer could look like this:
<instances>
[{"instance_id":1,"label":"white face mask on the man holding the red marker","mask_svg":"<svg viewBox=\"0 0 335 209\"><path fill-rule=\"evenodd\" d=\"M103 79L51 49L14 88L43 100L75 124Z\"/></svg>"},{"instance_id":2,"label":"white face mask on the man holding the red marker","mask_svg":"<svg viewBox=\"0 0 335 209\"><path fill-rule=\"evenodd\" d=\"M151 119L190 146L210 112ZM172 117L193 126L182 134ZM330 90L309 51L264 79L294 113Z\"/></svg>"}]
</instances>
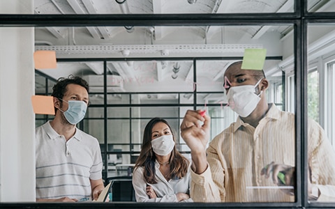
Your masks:
<instances>
[{"instance_id":1,"label":"white face mask on the man holding the red marker","mask_svg":"<svg viewBox=\"0 0 335 209\"><path fill-rule=\"evenodd\" d=\"M255 86L244 85L229 88L227 94L229 107L242 118L249 116L257 107L258 102L260 102L262 91L258 95L255 93L255 88L260 84L260 81L262 79Z\"/></svg>"}]
</instances>

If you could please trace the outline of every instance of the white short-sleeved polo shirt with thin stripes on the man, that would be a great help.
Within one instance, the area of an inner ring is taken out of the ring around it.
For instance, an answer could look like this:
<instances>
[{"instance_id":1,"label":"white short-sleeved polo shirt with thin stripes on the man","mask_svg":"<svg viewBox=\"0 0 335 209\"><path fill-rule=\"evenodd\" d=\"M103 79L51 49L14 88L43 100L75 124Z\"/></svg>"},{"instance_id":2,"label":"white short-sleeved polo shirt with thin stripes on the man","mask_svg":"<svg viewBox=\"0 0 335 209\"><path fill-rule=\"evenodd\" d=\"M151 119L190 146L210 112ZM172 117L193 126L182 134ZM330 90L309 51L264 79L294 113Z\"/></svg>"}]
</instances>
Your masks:
<instances>
[{"instance_id":1,"label":"white short-sleeved polo shirt with thin stripes on the man","mask_svg":"<svg viewBox=\"0 0 335 209\"><path fill-rule=\"evenodd\" d=\"M91 180L102 178L99 142L76 128L66 141L50 121L36 128L36 198L91 199Z\"/></svg>"}]
</instances>

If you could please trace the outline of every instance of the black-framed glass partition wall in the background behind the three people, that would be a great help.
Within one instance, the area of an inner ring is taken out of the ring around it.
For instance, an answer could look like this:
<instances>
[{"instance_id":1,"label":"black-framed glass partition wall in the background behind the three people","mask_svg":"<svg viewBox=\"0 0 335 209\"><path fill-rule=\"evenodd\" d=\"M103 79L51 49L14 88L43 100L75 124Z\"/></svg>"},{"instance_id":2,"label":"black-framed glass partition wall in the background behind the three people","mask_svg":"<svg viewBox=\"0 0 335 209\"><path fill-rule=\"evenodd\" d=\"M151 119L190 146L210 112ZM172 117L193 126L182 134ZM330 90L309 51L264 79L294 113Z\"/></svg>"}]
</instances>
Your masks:
<instances>
[{"instance_id":1,"label":"black-framed glass partition wall in the background behind the three people","mask_svg":"<svg viewBox=\"0 0 335 209\"><path fill-rule=\"evenodd\" d=\"M189 159L190 150L179 136L179 125L187 109L207 110L212 125L210 140L236 121L237 114L228 107L223 92L223 74L230 63L241 59L243 57L235 60L208 57L154 61L59 59L57 69L36 70L36 94L50 95L56 81L54 76L58 79L75 75L87 80L89 107L78 127L100 142L104 179L131 176L140 153L144 127L151 118L165 118L170 123L177 136L179 151ZM280 57L268 57L265 71L280 61ZM162 63L166 65L163 68ZM103 73L90 72L87 66L92 65ZM268 100L280 109L284 108L282 75L283 72L278 71L267 77L271 81ZM36 127L50 119L52 116L36 115Z\"/></svg>"}]
</instances>

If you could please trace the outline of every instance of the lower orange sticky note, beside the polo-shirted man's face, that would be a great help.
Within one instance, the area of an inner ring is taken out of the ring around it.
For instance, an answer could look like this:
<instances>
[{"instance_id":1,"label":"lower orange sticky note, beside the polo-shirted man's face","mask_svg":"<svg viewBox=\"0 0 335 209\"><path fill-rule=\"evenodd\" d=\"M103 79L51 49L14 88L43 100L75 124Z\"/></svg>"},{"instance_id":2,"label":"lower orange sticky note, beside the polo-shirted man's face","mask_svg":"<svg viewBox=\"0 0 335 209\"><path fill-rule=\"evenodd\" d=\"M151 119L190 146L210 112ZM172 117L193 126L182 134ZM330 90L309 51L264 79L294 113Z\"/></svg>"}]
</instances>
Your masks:
<instances>
[{"instance_id":1,"label":"lower orange sticky note, beside the polo-shirted man's face","mask_svg":"<svg viewBox=\"0 0 335 209\"><path fill-rule=\"evenodd\" d=\"M35 114L54 115L54 97L45 95L32 95L31 103Z\"/></svg>"}]
</instances>

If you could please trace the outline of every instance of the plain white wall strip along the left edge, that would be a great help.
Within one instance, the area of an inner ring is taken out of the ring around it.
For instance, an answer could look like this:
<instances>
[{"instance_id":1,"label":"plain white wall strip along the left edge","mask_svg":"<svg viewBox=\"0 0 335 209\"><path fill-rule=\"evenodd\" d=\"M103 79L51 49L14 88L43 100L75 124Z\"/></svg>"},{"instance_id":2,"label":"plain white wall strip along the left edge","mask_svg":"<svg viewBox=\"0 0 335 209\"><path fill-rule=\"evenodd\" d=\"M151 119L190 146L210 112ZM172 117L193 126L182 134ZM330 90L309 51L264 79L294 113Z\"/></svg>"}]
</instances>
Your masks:
<instances>
[{"instance_id":1,"label":"plain white wall strip along the left edge","mask_svg":"<svg viewBox=\"0 0 335 209\"><path fill-rule=\"evenodd\" d=\"M0 13L33 13L33 0ZM0 27L0 201L35 201L34 28Z\"/></svg>"}]
</instances>

